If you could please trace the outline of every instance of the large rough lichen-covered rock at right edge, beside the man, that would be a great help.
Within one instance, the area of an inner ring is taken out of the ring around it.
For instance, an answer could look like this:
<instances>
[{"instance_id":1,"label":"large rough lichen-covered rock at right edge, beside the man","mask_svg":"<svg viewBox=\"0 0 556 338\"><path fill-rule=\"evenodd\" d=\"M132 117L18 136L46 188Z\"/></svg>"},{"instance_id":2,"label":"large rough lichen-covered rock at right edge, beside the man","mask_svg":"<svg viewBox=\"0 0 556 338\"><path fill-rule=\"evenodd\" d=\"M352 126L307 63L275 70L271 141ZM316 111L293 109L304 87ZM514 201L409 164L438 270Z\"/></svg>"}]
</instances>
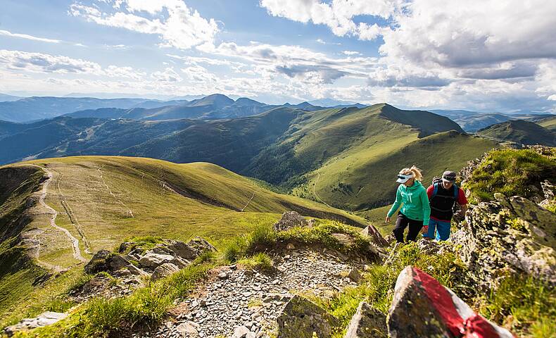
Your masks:
<instances>
[{"instance_id":1,"label":"large rough lichen-covered rock at right edge, beside the man","mask_svg":"<svg viewBox=\"0 0 556 338\"><path fill-rule=\"evenodd\" d=\"M462 230L451 241L469 278L495 288L508 273L525 273L556 284L556 215L520 196L495 194L466 213Z\"/></svg>"}]
</instances>

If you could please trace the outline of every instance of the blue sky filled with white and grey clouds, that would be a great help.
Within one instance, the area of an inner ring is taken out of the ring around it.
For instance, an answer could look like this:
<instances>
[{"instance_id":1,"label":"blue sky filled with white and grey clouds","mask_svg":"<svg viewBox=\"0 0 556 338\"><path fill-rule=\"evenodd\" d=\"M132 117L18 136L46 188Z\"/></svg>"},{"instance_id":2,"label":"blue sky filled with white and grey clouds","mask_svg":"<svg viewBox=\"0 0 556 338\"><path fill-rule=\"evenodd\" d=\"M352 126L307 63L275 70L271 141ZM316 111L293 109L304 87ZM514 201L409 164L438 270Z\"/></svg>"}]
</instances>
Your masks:
<instances>
[{"instance_id":1,"label":"blue sky filled with white and grey clouds","mask_svg":"<svg viewBox=\"0 0 556 338\"><path fill-rule=\"evenodd\" d=\"M0 93L556 113L556 1L0 0Z\"/></svg>"}]
</instances>

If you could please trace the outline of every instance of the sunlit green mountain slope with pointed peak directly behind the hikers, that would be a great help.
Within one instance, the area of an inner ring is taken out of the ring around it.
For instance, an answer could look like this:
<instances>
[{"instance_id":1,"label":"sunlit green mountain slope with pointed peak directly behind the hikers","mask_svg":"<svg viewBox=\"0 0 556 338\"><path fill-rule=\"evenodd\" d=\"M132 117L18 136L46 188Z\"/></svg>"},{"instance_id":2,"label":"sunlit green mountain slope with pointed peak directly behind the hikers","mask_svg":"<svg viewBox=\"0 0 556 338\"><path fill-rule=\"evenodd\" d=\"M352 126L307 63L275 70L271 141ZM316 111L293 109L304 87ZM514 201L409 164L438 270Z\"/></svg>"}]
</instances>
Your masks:
<instances>
[{"instance_id":1,"label":"sunlit green mountain slope with pointed peak directly behind the hikers","mask_svg":"<svg viewBox=\"0 0 556 338\"><path fill-rule=\"evenodd\" d=\"M243 173L298 196L362 211L393 201L393 177L403 167L419 165L429 180L493 146L429 112L387 104L329 109L294 120L282 142L265 149Z\"/></svg>"}]
</instances>

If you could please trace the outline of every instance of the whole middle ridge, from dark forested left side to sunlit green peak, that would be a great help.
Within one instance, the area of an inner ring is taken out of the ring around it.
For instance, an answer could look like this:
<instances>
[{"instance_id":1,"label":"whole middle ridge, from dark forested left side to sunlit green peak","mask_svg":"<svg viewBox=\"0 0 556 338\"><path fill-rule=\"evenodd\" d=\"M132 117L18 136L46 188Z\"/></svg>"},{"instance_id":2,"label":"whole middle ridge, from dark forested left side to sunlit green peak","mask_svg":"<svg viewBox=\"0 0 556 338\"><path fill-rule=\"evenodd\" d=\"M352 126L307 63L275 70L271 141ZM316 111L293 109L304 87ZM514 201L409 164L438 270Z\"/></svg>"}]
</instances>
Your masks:
<instances>
[{"instance_id":1,"label":"whole middle ridge, from dark forested left side to sunlit green peak","mask_svg":"<svg viewBox=\"0 0 556 338\"><path fill-rule=\"evenodd\" d=\"M429 179L429 173L457 170L495 146L446 117L388 104L320 111L281 107L225 120L60 117L31 126L0 139L0 163L79 155L203 161L353 211L391 203L395 184L377 177L394 177L400 165L421 165ZM443 153L443 142L453 148L448 162L430 155ZM423 144L429 154L419 151ZM417 150L401 156L406 147Z\"/></svg>"}]
</instances>

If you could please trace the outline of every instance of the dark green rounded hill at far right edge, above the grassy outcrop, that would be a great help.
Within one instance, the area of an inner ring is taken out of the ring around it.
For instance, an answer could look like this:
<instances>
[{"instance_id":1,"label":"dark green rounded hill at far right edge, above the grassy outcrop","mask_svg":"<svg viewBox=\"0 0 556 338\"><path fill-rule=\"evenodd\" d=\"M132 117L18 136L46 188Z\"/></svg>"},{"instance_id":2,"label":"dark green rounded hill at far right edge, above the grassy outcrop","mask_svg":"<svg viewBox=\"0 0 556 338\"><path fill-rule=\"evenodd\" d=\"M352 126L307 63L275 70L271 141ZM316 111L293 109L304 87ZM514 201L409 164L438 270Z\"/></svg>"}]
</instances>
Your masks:
<instances>
[{"instance_id":1,"label":"dark green rounded hill at far right edge, above the grassy outcrop","mask_svg":"<svg viewBox=\"0 0 556 338\"><path fill-rule=\"evenodd\" d=\"M519 144L543 144L556 146L556 133L541 125L524 120L512 120L491 125L477 131L477 134L500 141Z\"/></svg>"}]
</instances>

